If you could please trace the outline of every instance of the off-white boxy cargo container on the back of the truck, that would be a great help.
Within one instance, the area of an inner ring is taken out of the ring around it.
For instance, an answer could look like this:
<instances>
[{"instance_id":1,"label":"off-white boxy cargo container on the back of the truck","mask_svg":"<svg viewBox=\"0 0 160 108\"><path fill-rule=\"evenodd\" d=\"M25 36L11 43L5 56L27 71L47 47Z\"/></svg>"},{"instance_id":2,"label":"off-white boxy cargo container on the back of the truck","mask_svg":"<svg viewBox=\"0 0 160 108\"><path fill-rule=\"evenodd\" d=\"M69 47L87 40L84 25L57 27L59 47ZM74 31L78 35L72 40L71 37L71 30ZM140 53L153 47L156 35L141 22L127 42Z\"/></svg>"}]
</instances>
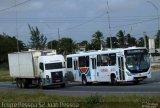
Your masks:
<instances>
[{"instance_id":1,"label":"off-white boxy cargo container on the back of the truck","mask_svg":"<svg viewBox=\"0 0 160 108\"><path fill-rule=\"evenodd\" d=\"M37 77L37 62L40 53L17 52L8 54L10 76L13 78Z\"/></svg>"}]
</instances>

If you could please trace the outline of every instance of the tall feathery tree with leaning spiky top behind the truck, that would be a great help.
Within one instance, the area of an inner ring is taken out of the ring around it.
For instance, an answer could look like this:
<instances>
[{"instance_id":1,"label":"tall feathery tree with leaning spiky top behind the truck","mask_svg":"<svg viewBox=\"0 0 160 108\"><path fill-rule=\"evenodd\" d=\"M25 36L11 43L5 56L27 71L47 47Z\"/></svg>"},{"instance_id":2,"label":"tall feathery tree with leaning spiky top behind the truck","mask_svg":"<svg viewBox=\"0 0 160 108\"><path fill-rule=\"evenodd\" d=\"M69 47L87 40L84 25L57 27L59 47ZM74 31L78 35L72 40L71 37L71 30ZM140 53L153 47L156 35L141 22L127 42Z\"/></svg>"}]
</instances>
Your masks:
<instances>
[{"instance_id":1,"label":"tall feathery tree with leaning spiky top behind the truck","mask_svg":"<svg viewBox=\"0 0 160 108\"><path fill-rule=\"evenodd\" d=\"M47 41L47 37L40 33L37 27L33 28L28 25L31 33L31 47L36 49L44 49Z\"/></svg>"}]
</instances>

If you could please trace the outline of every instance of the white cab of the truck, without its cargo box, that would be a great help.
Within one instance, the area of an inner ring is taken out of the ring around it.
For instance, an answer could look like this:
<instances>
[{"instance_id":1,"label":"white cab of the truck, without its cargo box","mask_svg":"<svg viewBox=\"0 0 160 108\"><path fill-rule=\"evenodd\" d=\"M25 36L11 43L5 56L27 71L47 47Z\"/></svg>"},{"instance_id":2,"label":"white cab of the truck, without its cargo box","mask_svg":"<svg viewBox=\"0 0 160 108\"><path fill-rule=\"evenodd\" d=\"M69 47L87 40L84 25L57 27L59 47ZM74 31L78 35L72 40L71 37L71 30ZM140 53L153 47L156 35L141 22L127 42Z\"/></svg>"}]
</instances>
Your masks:
<instances>
[{"instance_id":1,"label":"white cab of the truck, without its cargo box","mask_svg":"<svg viewBox=\"0 0 160 108\"><path fill-rule=\"evenodd\" d=\"M60 85L65 87L65 59L62 55L39 56L38 75L41 87Z\"/></svg>"}]
</instances>

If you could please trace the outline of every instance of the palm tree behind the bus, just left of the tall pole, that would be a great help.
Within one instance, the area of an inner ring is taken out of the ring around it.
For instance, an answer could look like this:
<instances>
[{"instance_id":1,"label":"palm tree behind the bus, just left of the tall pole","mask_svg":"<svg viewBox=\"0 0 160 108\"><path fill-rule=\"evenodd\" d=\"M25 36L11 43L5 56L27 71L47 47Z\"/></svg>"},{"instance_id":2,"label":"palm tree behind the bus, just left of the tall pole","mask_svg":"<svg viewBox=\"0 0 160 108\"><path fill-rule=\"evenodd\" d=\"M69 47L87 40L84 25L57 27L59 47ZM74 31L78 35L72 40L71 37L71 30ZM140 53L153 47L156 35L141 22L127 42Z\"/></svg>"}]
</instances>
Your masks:
<instances>
[{"instance_id":1,"label":"palm tree behind the bus, just left of the tall pole","mask_svg":"<svg viewBox=\"0 0 160 108\"><path fill-rule=\"evenodd\" d=\"M100 31L97 31L92 35L92 38L93 39L91 41L91 44L92 44L94 50L100 50L101 49L101 42L103 40L103 33Z\"/></svg>"}]
</instances>

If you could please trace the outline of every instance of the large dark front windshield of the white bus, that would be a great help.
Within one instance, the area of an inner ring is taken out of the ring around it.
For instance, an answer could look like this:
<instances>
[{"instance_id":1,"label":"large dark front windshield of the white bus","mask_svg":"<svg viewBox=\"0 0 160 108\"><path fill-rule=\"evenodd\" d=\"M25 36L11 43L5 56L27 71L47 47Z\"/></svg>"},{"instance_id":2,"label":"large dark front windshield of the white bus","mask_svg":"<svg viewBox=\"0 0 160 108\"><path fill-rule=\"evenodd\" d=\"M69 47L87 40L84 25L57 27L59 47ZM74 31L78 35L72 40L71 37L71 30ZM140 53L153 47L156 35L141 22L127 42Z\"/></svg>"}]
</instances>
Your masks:
<instances>
[{"instance_id":1,"label":"large dark front windshield of the white bus","mask_svg":"<svg viewBox=\"0 0 160 108\"><path fill-rule=\"evenodd\" d=\"M126 68L132 73L142 73L150 68L149 55L146 49L126 50Z\"/></svg>"}]
</instances>

